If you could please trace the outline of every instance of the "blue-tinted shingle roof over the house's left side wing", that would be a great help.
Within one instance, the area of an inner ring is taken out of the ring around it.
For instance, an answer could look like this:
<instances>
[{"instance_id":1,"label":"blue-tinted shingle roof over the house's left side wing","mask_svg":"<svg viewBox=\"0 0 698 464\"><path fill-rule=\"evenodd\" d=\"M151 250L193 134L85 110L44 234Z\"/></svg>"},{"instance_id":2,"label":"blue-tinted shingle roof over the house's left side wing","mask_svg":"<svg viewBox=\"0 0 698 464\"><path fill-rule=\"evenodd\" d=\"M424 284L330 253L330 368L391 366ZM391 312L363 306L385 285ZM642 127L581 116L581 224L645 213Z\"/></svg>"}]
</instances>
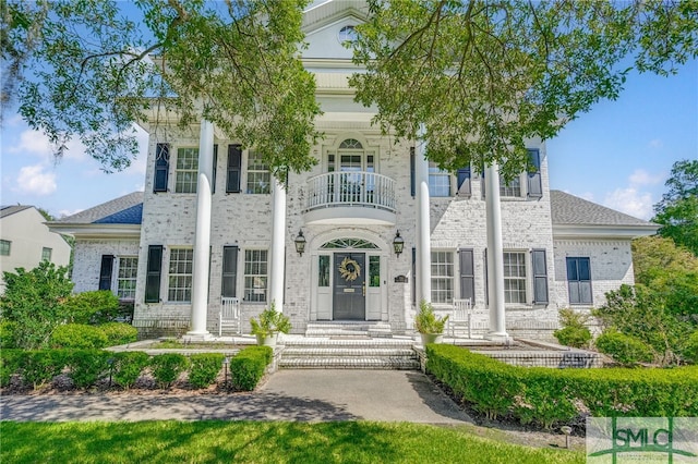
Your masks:
<instances>
[{"instance_id":1,"label":"blue-tinted shingle roof over the house's left side wing","mask_svg":"<svg viewBox=\"0 0 698 464\"><path fill-rule=\"evenodd\" d=\"M55 221L56 224L140 224L143 215L143 192L133 192L122 197L85 209L73 216Z\"/></svg>"}]
</instances>

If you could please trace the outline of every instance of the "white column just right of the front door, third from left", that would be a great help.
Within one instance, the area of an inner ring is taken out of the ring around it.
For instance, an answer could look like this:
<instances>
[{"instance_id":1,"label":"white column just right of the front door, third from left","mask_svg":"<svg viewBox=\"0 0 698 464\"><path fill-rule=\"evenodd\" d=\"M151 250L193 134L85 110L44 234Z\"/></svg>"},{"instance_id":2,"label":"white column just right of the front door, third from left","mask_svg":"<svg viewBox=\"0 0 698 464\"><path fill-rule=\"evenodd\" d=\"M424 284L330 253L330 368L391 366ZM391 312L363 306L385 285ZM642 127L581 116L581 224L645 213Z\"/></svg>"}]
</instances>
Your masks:
<instances>
[{"instance_id":1,"label":"white column just right of the front door, third from left","mask_svg":"<svg viewBox=\"0 0 698 464\"><path fill-rule=\"evenodd\" d=\"M417 304L432 301L432 253L429 220L429 161L424 158L424 127L414 147L414 183L417 187Z\"/></svg>"}]
</instances>

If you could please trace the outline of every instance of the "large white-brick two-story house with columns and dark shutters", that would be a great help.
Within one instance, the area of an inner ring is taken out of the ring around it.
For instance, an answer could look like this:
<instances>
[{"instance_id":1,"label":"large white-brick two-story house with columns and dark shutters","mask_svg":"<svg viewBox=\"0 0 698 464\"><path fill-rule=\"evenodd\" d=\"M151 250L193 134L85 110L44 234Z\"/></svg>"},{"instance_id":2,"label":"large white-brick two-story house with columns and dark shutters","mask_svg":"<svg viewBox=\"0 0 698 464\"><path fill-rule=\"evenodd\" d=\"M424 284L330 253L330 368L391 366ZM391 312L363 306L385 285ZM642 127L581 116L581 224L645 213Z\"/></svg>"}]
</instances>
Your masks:
<instances>
[{"instance_id":1,"label":"large white-brick two-story house with columns and dark shutters","mask_svg":"<svg viewBox=\"0 0 698 464\"><path fill-rule=\"evenodd\" d=\"M134 325L217 332L222 304L244 325L272 302L293 331L315 321L412 328L418 302L470 300L480 333L549 338L562 307L590 308L633 283L631 239L652 223L549 187L549 154L498 188L496 167L444 172L423 147L384 136L353 101L342 42L364 19L356 2L314 4L303 61L316 78L325 137L318 163L270 176L254 147L210 122L144 121L145 192L51 223L76 239L76 291L134 302ZM249 325L246 327L249 331Z\"/></svg>"}]
</instances>

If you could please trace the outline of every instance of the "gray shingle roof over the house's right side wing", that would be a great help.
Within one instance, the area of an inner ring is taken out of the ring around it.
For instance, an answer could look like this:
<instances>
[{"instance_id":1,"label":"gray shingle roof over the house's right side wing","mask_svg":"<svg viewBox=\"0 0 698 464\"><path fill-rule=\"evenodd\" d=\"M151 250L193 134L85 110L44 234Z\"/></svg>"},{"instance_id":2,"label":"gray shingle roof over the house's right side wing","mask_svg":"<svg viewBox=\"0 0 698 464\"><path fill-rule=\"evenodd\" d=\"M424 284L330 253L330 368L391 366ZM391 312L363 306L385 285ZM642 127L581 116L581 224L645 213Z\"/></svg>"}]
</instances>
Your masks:
<instances>
[{"instance_id":1,"label":"gray shingle roof over the house's right side wing","mask_svg":"<svg viewBox=\"0 0 698 464\"><path fill-rule=\"evenodd\" d=\"M653 225L561 191L550 191L550 208L553 224Z\"/></svg>"}]
</instances>

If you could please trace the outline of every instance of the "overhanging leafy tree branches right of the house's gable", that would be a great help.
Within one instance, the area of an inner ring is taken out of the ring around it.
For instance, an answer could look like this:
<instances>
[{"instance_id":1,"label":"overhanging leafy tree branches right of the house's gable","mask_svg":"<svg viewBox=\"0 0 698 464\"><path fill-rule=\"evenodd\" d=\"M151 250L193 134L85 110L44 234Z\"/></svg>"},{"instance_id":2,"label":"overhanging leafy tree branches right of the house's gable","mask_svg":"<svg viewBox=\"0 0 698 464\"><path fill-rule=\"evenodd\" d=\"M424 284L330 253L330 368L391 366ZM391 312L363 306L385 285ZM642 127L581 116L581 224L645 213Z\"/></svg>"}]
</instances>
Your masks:
<instances>
[{"instance_id":1,"label":"overhanging leafy tree branches right of the house's gable","mask_svg":"<svg viewBox=\"0 0 698 464\"><path fill-rule=\"evenodd\" d=\"M357 100L377 107L384 132L429 141L426 157L450 171L497 161L518 175L527 138L550 138L615 99L633 66L671 74L698 54L694 0L369 4Z\"/></svg>"}]
</instances>

